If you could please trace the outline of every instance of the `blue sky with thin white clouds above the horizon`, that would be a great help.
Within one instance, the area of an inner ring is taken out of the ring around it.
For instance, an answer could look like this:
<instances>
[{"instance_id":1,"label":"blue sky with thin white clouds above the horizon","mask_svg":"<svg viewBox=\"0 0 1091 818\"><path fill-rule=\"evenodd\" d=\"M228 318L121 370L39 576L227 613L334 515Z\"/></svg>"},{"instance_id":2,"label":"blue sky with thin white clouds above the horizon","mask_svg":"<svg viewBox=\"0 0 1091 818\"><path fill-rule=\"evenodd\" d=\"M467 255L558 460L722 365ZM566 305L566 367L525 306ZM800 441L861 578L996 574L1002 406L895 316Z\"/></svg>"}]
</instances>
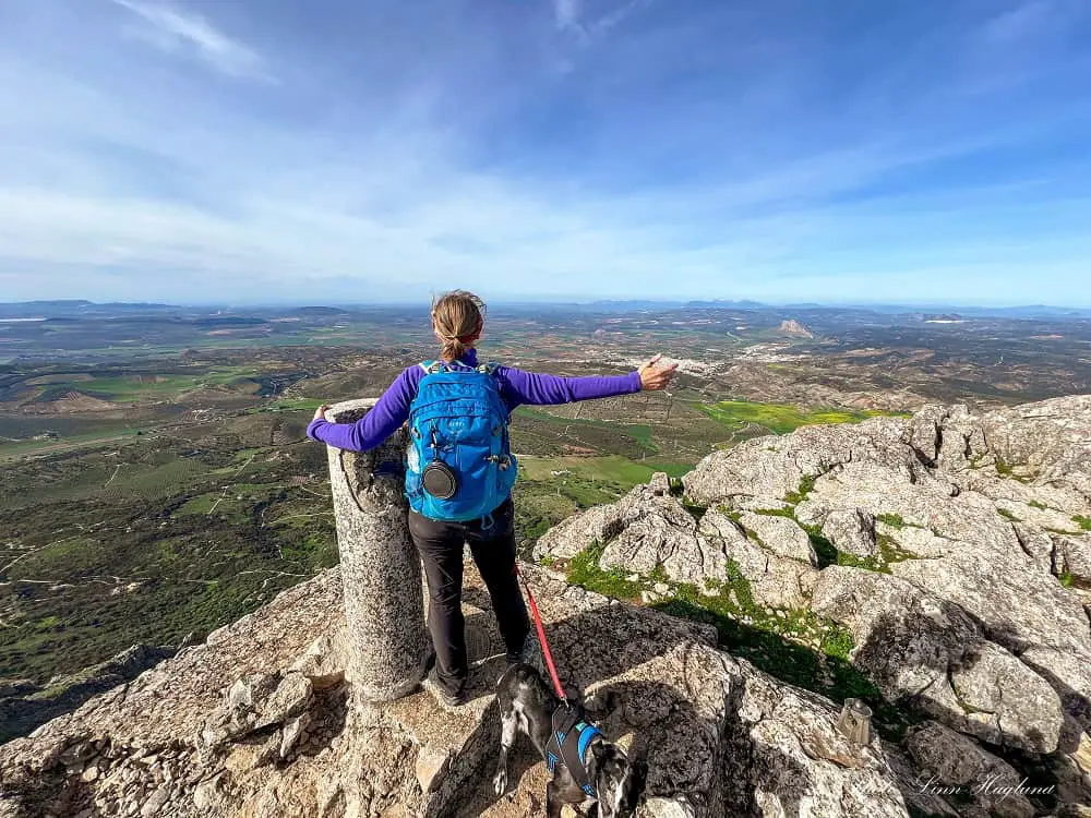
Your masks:
<instances>
[{"instance_id":1,"label":"blue sky with thin white clouds above the horizon","mask_svg":"<svg viewBox=\"0 0 1091 818\"><path fill-rule=\"evenodd\" d=\"M0 2L0 301L1089 281L1087 0Z\"/></svg>"}]
</instances>

